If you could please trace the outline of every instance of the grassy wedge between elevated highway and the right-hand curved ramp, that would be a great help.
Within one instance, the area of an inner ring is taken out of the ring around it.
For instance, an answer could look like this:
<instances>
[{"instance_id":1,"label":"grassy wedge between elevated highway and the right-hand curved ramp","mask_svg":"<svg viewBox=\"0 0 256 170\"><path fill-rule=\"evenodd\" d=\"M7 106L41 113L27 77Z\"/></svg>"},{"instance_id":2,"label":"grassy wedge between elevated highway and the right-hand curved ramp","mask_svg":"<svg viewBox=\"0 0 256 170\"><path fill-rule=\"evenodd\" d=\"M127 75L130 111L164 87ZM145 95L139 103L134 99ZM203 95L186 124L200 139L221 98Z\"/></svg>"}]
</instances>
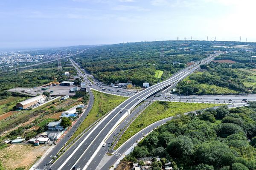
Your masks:
<instances>
[{"instance_id":1,"label":"grassy wedge between elevated highway and the right-hand curved ramp","mask_svg":"<svg viewBox=\"0 0 256 170\"><path fill-rule=\"evenodd\" d=\"M117 142L114 150L121 146L131 136L151 125L154 122L165 119L170 116L175 116L181 113L196 111L204 108L211 108L219 104L209 103L183 103L183 102L162 102L156 101L148 106L135 120L131 123L128 129L123 133Z\"/></svg>"}]
</instances>

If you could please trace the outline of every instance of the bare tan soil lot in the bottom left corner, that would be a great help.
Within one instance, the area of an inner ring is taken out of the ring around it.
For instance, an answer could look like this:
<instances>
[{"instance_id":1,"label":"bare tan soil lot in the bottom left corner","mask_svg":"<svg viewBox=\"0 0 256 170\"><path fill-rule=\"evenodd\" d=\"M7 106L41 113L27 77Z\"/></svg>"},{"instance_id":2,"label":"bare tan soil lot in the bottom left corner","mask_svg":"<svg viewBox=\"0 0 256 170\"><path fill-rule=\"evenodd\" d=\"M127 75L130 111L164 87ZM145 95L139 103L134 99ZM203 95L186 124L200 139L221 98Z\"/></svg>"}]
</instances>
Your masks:
<instances>
[{"instance_id":1,"label":"bare tan soil lot in the bottom left corner","mask_svg":"<svg viewBox=\"0 0 256 170\"><path fill-rule=\"evenodd\" d=\"M25 167L28 170L49 148L49 145L32 146L30 144L12 144L0 150L0 161L6 170Z\"/></svg>"}]
</instances>

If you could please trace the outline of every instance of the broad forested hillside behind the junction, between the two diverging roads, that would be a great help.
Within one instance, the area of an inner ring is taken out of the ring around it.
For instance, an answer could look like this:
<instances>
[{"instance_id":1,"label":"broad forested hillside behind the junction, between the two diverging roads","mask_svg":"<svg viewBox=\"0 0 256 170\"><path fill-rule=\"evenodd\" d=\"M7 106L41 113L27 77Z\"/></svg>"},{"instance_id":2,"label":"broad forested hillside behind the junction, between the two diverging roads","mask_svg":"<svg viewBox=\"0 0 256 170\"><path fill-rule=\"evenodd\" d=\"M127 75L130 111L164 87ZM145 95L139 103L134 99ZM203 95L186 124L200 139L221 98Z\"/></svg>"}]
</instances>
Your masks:
<instances>
[{"instance_id":1,"label":"broad forested hillside behind the junction, between the two diverging roads","mask_svg":"<svg viewBox=\"0 0 256 170\"><path fill-rule=\"evenodd\" d=\"M207 57L207 51L196 46L197 44L198 42L156 41L105 45L90 48L74 59L105 83L130 80L135 85L142 85L143 82L152 85L185 68L188 62ZM161 48L164 50L164 57L160 57ZM154 76L156 70L163 70L160 79Z\"/></svg>"}]
</instances>

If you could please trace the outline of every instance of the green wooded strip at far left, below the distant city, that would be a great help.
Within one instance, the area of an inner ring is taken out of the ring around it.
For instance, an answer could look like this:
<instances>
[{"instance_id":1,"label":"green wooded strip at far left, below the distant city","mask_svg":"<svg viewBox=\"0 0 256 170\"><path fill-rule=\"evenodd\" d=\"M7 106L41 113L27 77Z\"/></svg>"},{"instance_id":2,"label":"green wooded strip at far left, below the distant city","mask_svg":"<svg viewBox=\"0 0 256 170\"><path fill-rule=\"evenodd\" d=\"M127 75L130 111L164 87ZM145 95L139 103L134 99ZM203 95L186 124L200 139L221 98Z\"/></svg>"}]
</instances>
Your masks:
<instances>
[{"instance_id":1,"label":"green wooded strip at far left, below the distant city","mask_svg":"<svg viewBox=\"0 0 256 170\"><path fill-rule=\"evenodd\" d=\"M35 87L52 82L52 76L55 76L58 81L67 80L67 76L61 75L65 71L76 75L76 70L71 67L70 61L67 59L61 60L63 71L58 72L58 62L51 62L43 65L38 65L33 69L17 70L2 73L0 76L0 92L15 87Z\"/></svg>"}]
</instances>

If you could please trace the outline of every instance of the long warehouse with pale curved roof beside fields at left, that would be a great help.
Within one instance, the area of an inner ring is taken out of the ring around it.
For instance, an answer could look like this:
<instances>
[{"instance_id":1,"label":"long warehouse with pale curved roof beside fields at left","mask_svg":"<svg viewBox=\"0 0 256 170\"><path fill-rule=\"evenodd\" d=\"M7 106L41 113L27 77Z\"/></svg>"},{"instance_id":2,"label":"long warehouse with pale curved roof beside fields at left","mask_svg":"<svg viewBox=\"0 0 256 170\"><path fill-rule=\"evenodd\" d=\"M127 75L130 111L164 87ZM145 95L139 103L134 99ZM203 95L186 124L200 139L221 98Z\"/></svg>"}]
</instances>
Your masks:
<instances>
[{"instance_id":1,"label":"long warehouse with pale curved roof beside fields at left","mask_svg":"<svg viewBox=\"0 0 256 170\"><path fill-rule=\"evenodd\" d=\"M40 96L35 96L31 99L27 99L23 102L19 102L16 104L17 109L27 109L31 107L38 106L46 101L46 96L40 95Z\"/></svg>"}]
</instances>

